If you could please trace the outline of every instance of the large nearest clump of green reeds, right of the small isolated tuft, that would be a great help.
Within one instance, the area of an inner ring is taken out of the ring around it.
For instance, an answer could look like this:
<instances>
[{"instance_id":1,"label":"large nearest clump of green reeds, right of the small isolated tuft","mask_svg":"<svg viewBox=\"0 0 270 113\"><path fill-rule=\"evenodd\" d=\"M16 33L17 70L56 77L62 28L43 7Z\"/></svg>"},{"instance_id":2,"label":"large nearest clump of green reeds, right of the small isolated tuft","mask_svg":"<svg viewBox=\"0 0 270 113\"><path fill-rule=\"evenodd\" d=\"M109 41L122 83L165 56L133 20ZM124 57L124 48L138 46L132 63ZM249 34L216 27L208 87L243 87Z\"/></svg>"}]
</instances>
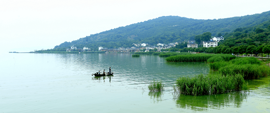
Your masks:
<instances>
[{"instance_id":1,"label":"large nearest clump of green reeds, right of the small isolated tuft","mask_svg":"<svg viewBox=\"0 0 270 113\"><path fill-rule=\"evenodd\" d=\"M196 77L182 77L176 80L175 92L186 95L213 95L231 91L247 90L247 84L240 74L222 76L202 74Z\"/></svg>"}]
</instances>

